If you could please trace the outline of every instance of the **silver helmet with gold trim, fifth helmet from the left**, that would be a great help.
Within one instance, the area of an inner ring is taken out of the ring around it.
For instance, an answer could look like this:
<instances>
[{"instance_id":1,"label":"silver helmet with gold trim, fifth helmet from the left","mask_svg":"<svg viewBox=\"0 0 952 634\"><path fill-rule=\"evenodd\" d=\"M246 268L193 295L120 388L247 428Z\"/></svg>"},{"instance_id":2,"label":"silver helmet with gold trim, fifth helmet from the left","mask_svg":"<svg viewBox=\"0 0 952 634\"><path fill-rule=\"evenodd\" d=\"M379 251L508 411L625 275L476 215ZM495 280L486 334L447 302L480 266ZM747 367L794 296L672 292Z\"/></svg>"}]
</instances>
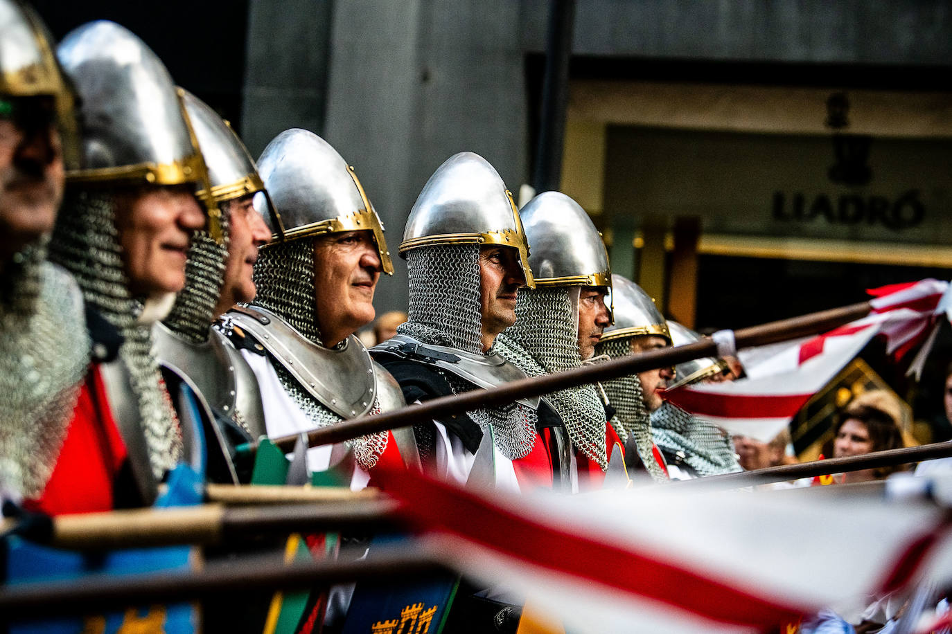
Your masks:
<instances>
[{"instance_id":1,"label":"silver helmet with gold trim, fifth helmet from the left","mask_svg":"<svg viewBox=\"0 0 952 634\"><path fill-rule=\"evenodd\" d=\"M519 251L526 286L535 288L526 232L506 183L486 159L460 152L446 159L413 203L400 255L435 244L500 244Z\"/></svg>"}]
</instances>

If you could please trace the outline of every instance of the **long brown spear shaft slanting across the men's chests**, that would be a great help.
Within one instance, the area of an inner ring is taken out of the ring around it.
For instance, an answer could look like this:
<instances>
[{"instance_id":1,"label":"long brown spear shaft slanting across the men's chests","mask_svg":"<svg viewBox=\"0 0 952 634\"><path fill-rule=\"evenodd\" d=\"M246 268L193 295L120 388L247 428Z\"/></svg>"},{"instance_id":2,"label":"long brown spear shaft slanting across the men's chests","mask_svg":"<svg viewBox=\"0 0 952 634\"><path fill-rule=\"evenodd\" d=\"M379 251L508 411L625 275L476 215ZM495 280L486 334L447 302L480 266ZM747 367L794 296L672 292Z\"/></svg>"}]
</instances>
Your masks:
<instances>
[{"instance_id":1,"label":"long brown spear shaft slanting across the men's chests","mask_svg":"<svg viewBox=\"0 0 952 634\"><path fill-rule=\"evenodd\" d=\"M870 308L869 302L863 301L858 304L812 313L802 317L774 321L735 331L734 339L737 348L740 349L777 343L800 336L816 335L854 319L865 317ZM596 381L605 381L619 376L634 375L645 370L673 366L703 356L717 356L717 352L717 344L709 338L704 338L675 348L652 350L640 355L611 359L605 361L605 363L573 368L565 372L511 381L488 390L477 389L464 394L441 396L420 405L411 405L375 416L360 416L336 425L312 430L307 432L307 445L308 447L319 447L340 443L368 433L407 427L421 420L440 418L484 407L494 407L511 403L518 398L551 394L586 383L595 383ZM271 442L283 451L291 451L297 438L297 435L281 436L272 438ZM243 445L238 450L250 452L255 450L255 446L253 444Z\"/></svg>"}]
</instances>

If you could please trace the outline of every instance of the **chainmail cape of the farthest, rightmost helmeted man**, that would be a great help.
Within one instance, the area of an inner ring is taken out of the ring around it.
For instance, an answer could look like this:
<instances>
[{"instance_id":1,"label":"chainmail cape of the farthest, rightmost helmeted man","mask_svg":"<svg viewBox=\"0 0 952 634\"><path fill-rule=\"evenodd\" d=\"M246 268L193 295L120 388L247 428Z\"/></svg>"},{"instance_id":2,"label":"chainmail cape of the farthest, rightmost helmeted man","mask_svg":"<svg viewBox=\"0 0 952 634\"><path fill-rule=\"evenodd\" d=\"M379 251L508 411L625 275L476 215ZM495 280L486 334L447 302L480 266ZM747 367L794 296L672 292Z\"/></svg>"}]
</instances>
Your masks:
<instances>
[{"instance_id":1,"label":"chainmail cape of the farthest, rightmost helmeted man","mask_svg":"<svg viewBox=\"0 0 952 634\"><path fill-rule=\"evenodd\" d=\"M724 432L676 405L665 402L651 413L651 431L662 451L683 451L684 462L699 475L744 471Z\"/></svg>"}]
</instances>

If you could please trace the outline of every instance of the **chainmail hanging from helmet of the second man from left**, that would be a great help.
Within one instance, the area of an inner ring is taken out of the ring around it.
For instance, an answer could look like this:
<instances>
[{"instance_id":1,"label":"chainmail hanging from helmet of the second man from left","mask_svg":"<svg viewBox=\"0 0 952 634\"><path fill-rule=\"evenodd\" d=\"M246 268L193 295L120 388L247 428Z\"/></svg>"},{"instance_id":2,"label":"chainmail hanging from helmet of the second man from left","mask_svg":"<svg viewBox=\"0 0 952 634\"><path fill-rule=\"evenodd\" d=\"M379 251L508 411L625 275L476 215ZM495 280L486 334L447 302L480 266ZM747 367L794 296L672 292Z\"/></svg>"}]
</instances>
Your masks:
<instances>
[{"instance_id":1,"label":"chainmail hanging from helmet of the second man from left","mask_svg":"<svg viewBox=\"0 0 952 634\"><path fill-rule=\"evenodd\" d=\"M50 259L73 275L86 302L124 337L119 356L131 375L152 472L161 479L183 457L182 431L152 353L151 324L138 318L144 302L129 293L109 191L68 188Z\"/></svg>"}]
</instances>

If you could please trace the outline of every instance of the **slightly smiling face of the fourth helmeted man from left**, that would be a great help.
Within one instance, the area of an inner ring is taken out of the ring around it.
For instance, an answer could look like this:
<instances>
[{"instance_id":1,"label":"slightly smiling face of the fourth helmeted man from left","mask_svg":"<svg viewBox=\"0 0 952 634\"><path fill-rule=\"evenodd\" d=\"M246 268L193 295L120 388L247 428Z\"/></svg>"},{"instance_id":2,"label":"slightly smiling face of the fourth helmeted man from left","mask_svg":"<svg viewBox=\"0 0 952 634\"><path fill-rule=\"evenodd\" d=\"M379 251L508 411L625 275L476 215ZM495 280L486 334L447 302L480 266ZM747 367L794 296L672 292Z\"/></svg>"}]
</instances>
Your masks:
<instances>
[{"instance_id":1,"label":"slightly smiling face of the fourth helmeted man from left","mask_svg":"<svg viewBox=\"0 0 952 634\"><path fill-rule=\"evenodd\" d=\"M333 347L373 321L382 266L373 233L346 231L314 240L317 327Z\"/></svg>"}]
</instances>

